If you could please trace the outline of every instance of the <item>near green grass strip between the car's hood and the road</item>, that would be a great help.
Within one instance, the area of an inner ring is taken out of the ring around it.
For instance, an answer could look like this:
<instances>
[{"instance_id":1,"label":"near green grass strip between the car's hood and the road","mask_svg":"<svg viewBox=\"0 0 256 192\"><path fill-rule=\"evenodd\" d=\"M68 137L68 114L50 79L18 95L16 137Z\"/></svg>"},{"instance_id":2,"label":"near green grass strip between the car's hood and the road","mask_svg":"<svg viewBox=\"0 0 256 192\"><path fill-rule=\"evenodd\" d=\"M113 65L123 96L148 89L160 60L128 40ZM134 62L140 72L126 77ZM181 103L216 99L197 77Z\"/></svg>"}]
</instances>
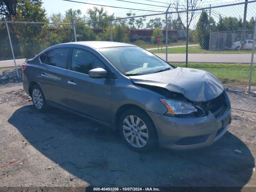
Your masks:
<instances>
[{"instance_id":1,"label":"near green grass strip between the car's hood and the road","mask_svg":"<svg viewBox=\"0 0 256 192\"><path fill-rule=\"evenodd\" d=\"M173 64L173 63L171 63ZM185 63L173 64L185 67ZM188 63L189 68L201 69L214 74L224 84L248 85L250 64ZM252 85L256 85L256 65L253 66Z\"/></svg>"}]
</instances>

